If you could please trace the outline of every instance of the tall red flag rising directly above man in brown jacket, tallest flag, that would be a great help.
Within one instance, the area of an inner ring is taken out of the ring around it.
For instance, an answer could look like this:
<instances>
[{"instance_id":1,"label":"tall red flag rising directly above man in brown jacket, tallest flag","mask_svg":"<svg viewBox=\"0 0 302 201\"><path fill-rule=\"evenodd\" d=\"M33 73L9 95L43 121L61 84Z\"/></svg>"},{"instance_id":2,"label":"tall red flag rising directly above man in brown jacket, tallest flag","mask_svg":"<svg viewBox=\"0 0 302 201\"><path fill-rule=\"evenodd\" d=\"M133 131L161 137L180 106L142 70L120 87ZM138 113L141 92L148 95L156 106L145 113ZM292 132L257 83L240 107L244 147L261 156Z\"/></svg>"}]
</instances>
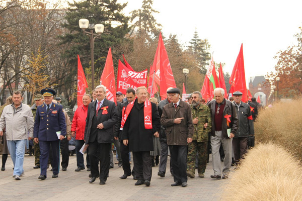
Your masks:
<instances>
[{"instance_id":1,"label":"tall red flag rising directly above man in brown jacket, tallest flag","mask_svg":"<svg viewBox=\"0 0 302 201\"><path fill-rule=\"evenodd\" d=\"M167 98L167 89L169 87L176 88L172 68L168 58L168 54L160 33L158 47L155 53L153 68L155 68L155 82L161 87L161 98L162 100ZM160 78L160 80L159 80ZM159 82L160 81L160 82Z\"/></svg>"}]
</instances>

